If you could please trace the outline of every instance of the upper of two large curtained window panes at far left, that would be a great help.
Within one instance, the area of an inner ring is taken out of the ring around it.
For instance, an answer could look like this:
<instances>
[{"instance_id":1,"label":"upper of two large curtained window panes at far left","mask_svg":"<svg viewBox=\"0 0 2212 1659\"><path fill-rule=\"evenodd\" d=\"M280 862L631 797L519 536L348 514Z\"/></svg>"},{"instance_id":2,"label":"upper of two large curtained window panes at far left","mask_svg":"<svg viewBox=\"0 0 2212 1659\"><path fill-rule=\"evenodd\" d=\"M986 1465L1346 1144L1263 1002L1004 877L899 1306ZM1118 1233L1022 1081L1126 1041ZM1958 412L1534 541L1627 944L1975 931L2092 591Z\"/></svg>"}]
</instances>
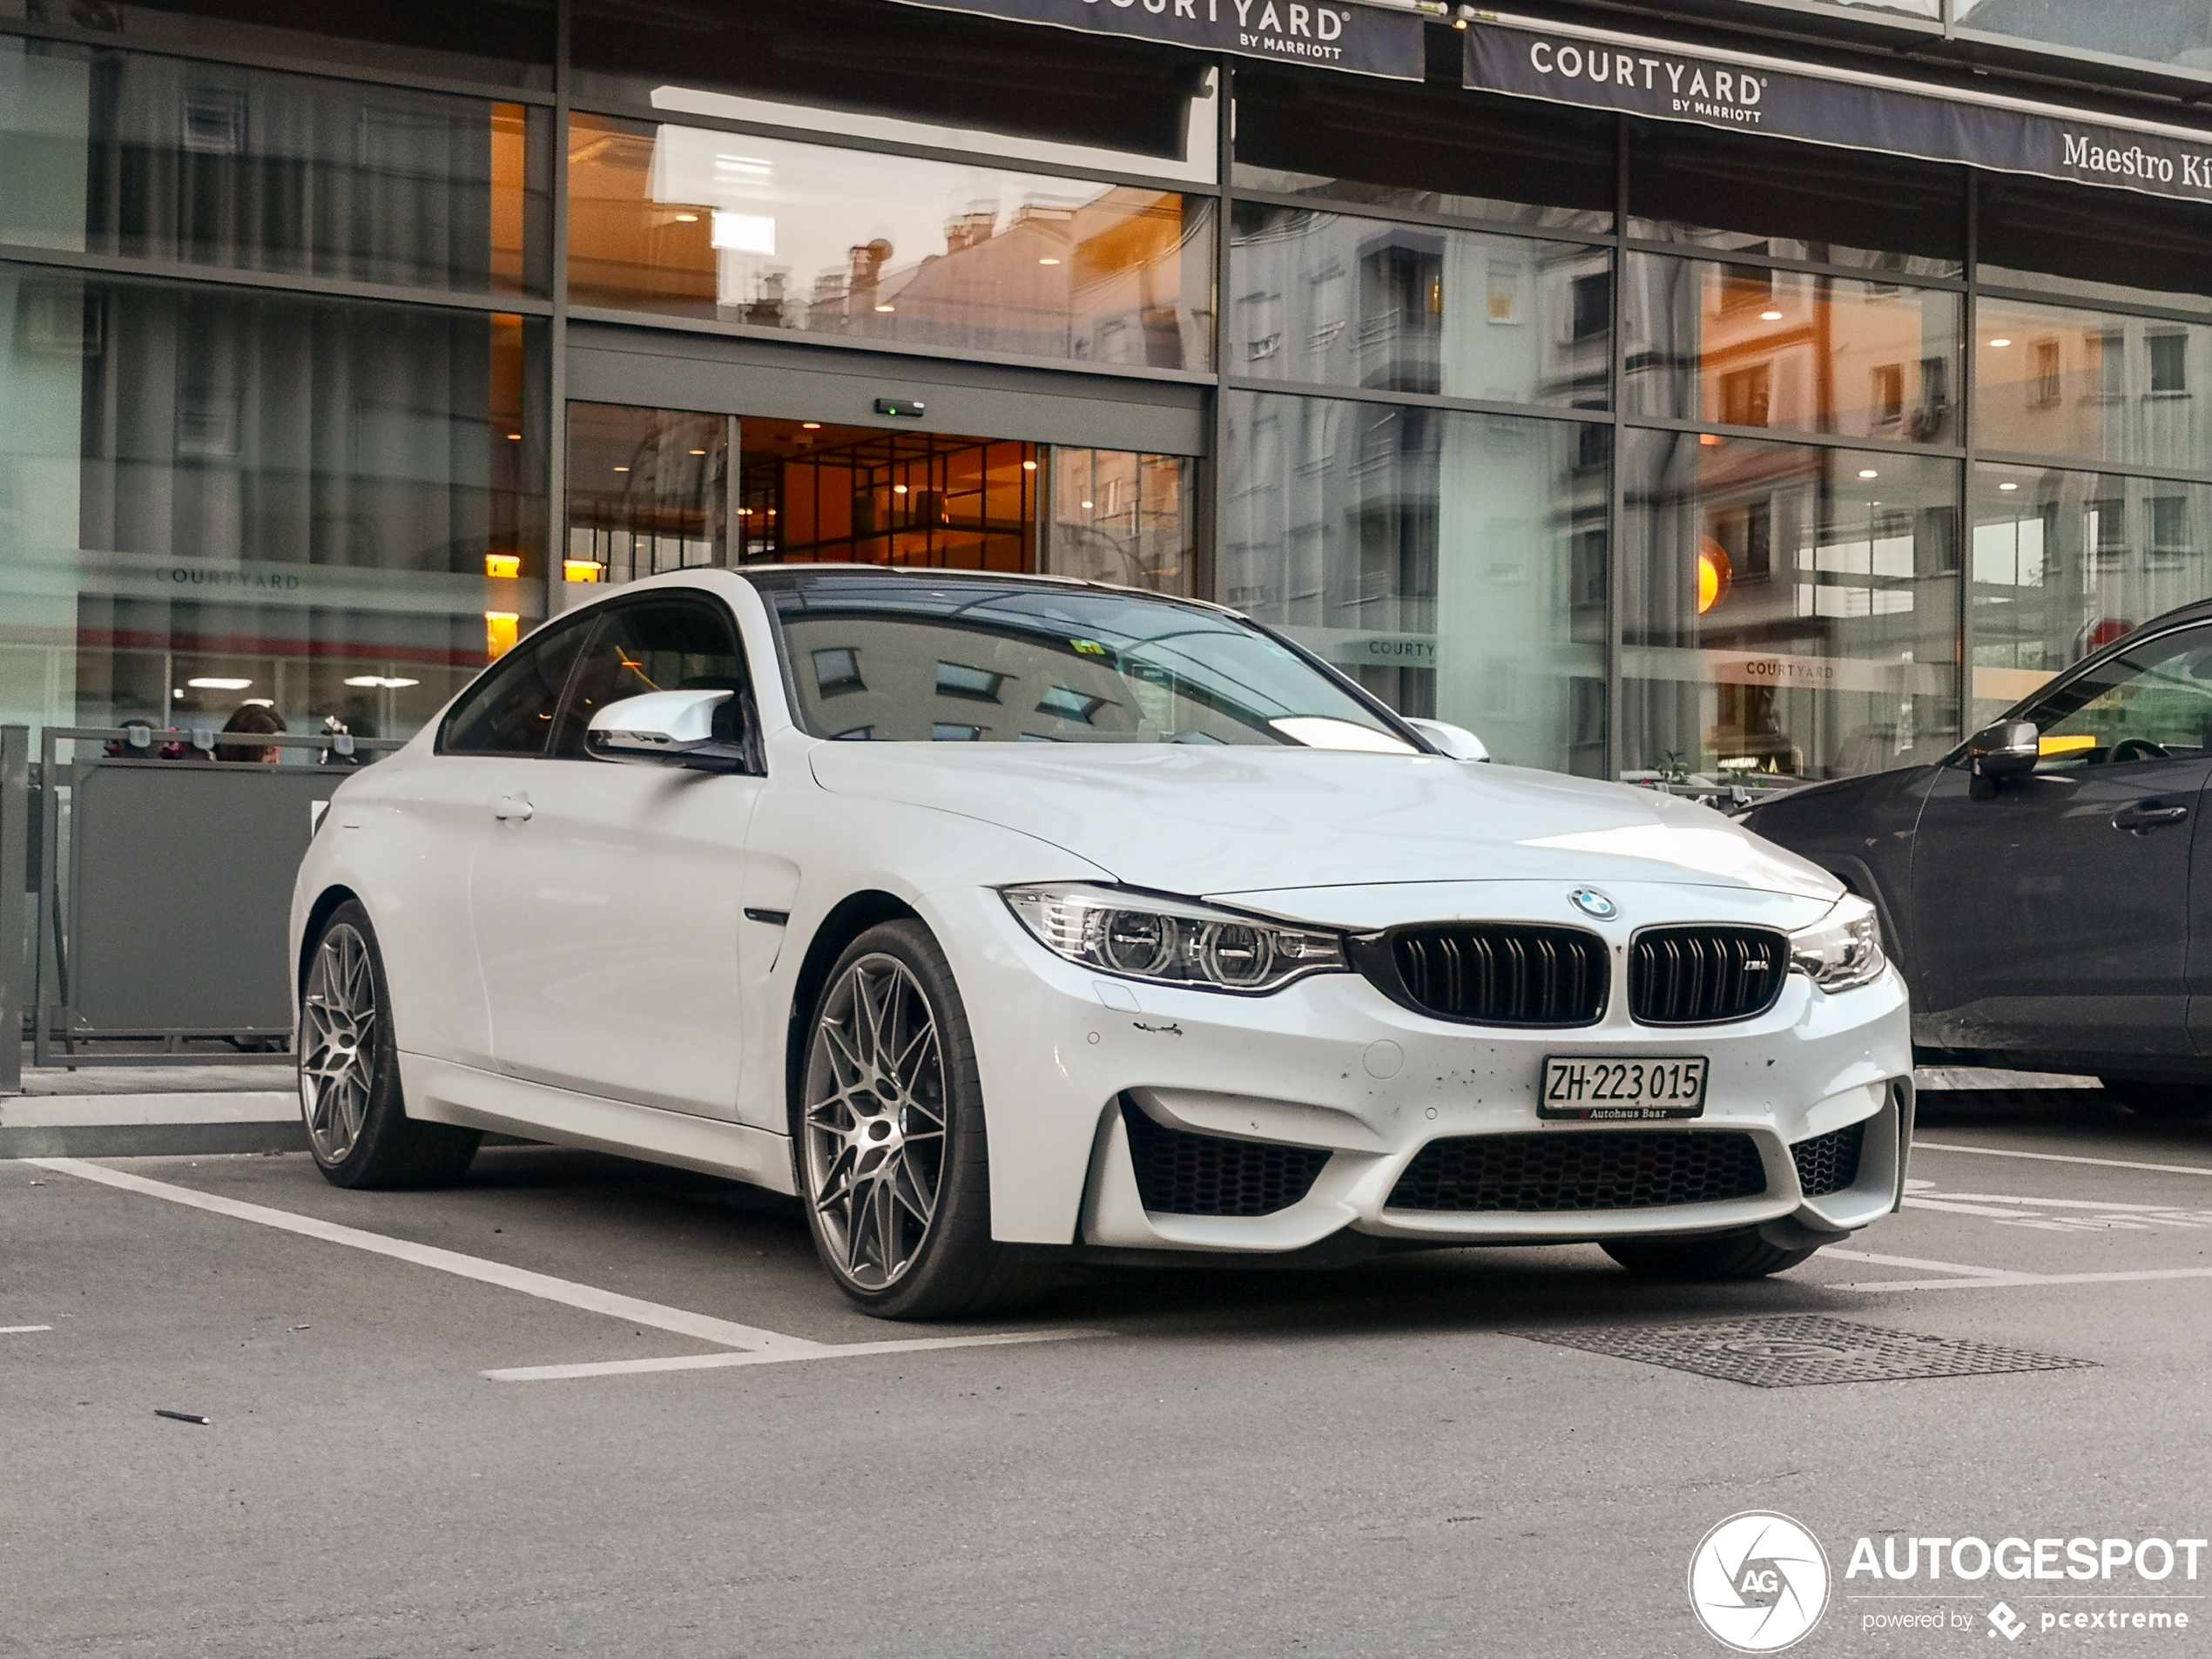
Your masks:
<instances>
[{"instance_id":1,"label":"upper of two large curtained window panes at far left","mask_svg":"<svg viewBox=\"0 0 2212 1659\"><path fill-rule=\"evenodd\" d=\"M0 35L4 241L507 294L524 177L520 104Z\"/></svg>"}]
</instances>

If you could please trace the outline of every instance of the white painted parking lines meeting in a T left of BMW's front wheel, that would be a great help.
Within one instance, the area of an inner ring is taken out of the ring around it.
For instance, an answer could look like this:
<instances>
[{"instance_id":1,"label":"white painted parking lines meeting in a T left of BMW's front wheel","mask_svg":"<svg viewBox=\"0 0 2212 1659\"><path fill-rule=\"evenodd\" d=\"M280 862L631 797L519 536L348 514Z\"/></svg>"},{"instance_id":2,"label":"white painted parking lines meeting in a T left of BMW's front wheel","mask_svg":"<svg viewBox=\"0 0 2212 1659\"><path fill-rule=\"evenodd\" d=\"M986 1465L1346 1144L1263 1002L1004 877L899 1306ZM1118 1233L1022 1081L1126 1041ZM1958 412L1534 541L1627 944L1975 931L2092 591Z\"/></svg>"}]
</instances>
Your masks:
<instances>
[{"instance_id":1,"label":"white painted parking lines meeting in a T left of BMW's front wheel","mask_svg":"<svg viewBox=\"0 0 2212 1659\"><path fill-rule=\"evenodd\" d=\"M434 1267L438 1272L456 1274L458 1279L476 1279L484 1285L500 1285L502 1290L520 1290L524 1296L540 1296L549 1303L564 1303L568 1307L582 1307L588 1314L606 1314L608 1318L624 1318L633 1325L650 1325L653 1329L675 1332L677 1336L692 1336L701 1343L717 1343L721 1347L745 1349L741 1354L697 1354L688 1358L668 1360L615 1360L604 1365L540 1365L522 1367L515 1371L484 1371L484 1376L498 1378L502 1383L520 1380L551 1380L568 1376L619 1376L624 1371L670 1371L670 1369L692 1369L692 1367L714 1367L714 1365L765 1365L779 1360L834 1360L852 1358L860 1354L902 1354L916 1349L936 1347L989 1347L1002 1343L1057 1343L1071 1336L1106 1336L1108 1332L1006 1332L995 1336L929 1336L909 1338L891 1343L814 1343L805 1336L785 1336L783 1332L768 1332L759 1325L737 1325L728 1318L710 1318L708 1314L692 1314L684 1307L664 1307L661 1303L648 1303L637 1296L622 1296L613 1290L597 1290L595 1285L577 1285L568 1279L553 1279L551 1274L538 1274L526 1267L509 1267L504 1261L484 1261L482 1256L465 1256L458 1250L440 1250L438 1245L422 1245L409 1239L387 1239L380 1232L363 1232L361 1228L343 1228L336 1221L319 1221L316 1217L294 1214L290 1210L270 1210L261 1203L241 1203L239 1199L223 1199L215 1192L197 1192L186 1186L170 1186L168 1181L150 1181L144 1175L126 1175L122 1170L111 1170L100 1164L86 1164L75 1157L35 1157L24 1159L24 1164L38 1164L40 1168L55 1170L60 1175L75 1175L86 1181L100 1181L102 1186L122 1188L124 1192L137 1192L148 1199L166 1199L168 1203L181 1203L192 1210L208 1210L212 1214L223 1214L234 1221L252 1221L263 1228L279 1228L281 1232L296 1232L307 1239L321 1239L325 1243L347 1245L349 1250L367 1250L378 1256L394 1256L396 1261L409 1261L416 1267ZM35 1327L44 1329L44 1327Z\"/></svg>"}]
</instances>

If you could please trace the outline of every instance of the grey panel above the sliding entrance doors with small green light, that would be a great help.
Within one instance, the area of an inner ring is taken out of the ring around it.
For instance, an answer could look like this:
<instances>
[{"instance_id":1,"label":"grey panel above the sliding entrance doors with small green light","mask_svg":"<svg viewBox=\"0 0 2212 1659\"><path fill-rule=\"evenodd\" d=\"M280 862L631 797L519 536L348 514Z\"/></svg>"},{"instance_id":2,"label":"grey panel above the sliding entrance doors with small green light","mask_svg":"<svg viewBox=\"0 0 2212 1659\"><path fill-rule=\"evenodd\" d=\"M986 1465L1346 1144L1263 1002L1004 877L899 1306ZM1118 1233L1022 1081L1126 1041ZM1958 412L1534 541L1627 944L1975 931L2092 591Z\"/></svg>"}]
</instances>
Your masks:
<instances>
[{"instance_id":1,"label":"grey panel above the sliding entrance doors with small green light","mask_svg":"<svg viewBox=\"0 0 2212 1659\"><path fill-rule=\"evenodd\" d=\"M1208 389L1201 385L599 323L568 330L568 396L1155 456L1203 456L1208 447ZM925 416L880 416L876 398L920 398Z\"/></svg>"}]
</instances>

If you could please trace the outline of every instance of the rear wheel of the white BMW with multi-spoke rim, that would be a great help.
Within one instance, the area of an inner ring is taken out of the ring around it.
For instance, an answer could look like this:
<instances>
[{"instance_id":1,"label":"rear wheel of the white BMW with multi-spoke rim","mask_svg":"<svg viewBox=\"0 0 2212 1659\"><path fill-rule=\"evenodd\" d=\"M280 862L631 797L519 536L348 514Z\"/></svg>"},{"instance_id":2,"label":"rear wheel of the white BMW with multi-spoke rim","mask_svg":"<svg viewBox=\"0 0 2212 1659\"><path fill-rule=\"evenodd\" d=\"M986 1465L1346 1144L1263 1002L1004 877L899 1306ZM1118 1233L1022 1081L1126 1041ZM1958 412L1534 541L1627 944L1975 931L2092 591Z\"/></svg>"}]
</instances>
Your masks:
<instances>
[{"instance_id":1,"label":"rear wheel of the white BMW with multi-spoke rim","mask_svg":"<svg viewBox=\"0 0 2212 1659\"><path fill-rule=\"evenodd\" d=\"M361 902L347 900L323 920L299 995L292 1048L307 1150L334 1186L451 1186L482 1130L407 1117L389 1009L376 929Z\"/></svg>"}]
</instances>

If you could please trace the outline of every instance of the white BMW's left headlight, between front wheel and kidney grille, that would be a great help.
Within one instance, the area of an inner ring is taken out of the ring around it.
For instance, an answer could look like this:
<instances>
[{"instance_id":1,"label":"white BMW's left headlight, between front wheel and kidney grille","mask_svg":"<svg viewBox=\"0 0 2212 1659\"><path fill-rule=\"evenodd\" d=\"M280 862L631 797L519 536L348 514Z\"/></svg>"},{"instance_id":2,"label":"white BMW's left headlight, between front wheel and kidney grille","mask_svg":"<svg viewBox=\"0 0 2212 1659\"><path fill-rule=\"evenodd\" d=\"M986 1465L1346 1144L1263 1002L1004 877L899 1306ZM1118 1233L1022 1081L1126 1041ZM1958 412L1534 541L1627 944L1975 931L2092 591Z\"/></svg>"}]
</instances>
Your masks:
<instances>
[{"instance_id":1,"label":"white BMW's left headlight, between front wheel and kidney grille","mask_svg":"<svg viewBox=\"0 0 2212 1659\"><path fill-rule=\"evenodd\" d=\"M1088 883L1004 887L1000 896L1044 949L1124 980L1276 991L1345 967L1336 933L1261 922L1188 898Z\"/></svg>"}]
</instances>

